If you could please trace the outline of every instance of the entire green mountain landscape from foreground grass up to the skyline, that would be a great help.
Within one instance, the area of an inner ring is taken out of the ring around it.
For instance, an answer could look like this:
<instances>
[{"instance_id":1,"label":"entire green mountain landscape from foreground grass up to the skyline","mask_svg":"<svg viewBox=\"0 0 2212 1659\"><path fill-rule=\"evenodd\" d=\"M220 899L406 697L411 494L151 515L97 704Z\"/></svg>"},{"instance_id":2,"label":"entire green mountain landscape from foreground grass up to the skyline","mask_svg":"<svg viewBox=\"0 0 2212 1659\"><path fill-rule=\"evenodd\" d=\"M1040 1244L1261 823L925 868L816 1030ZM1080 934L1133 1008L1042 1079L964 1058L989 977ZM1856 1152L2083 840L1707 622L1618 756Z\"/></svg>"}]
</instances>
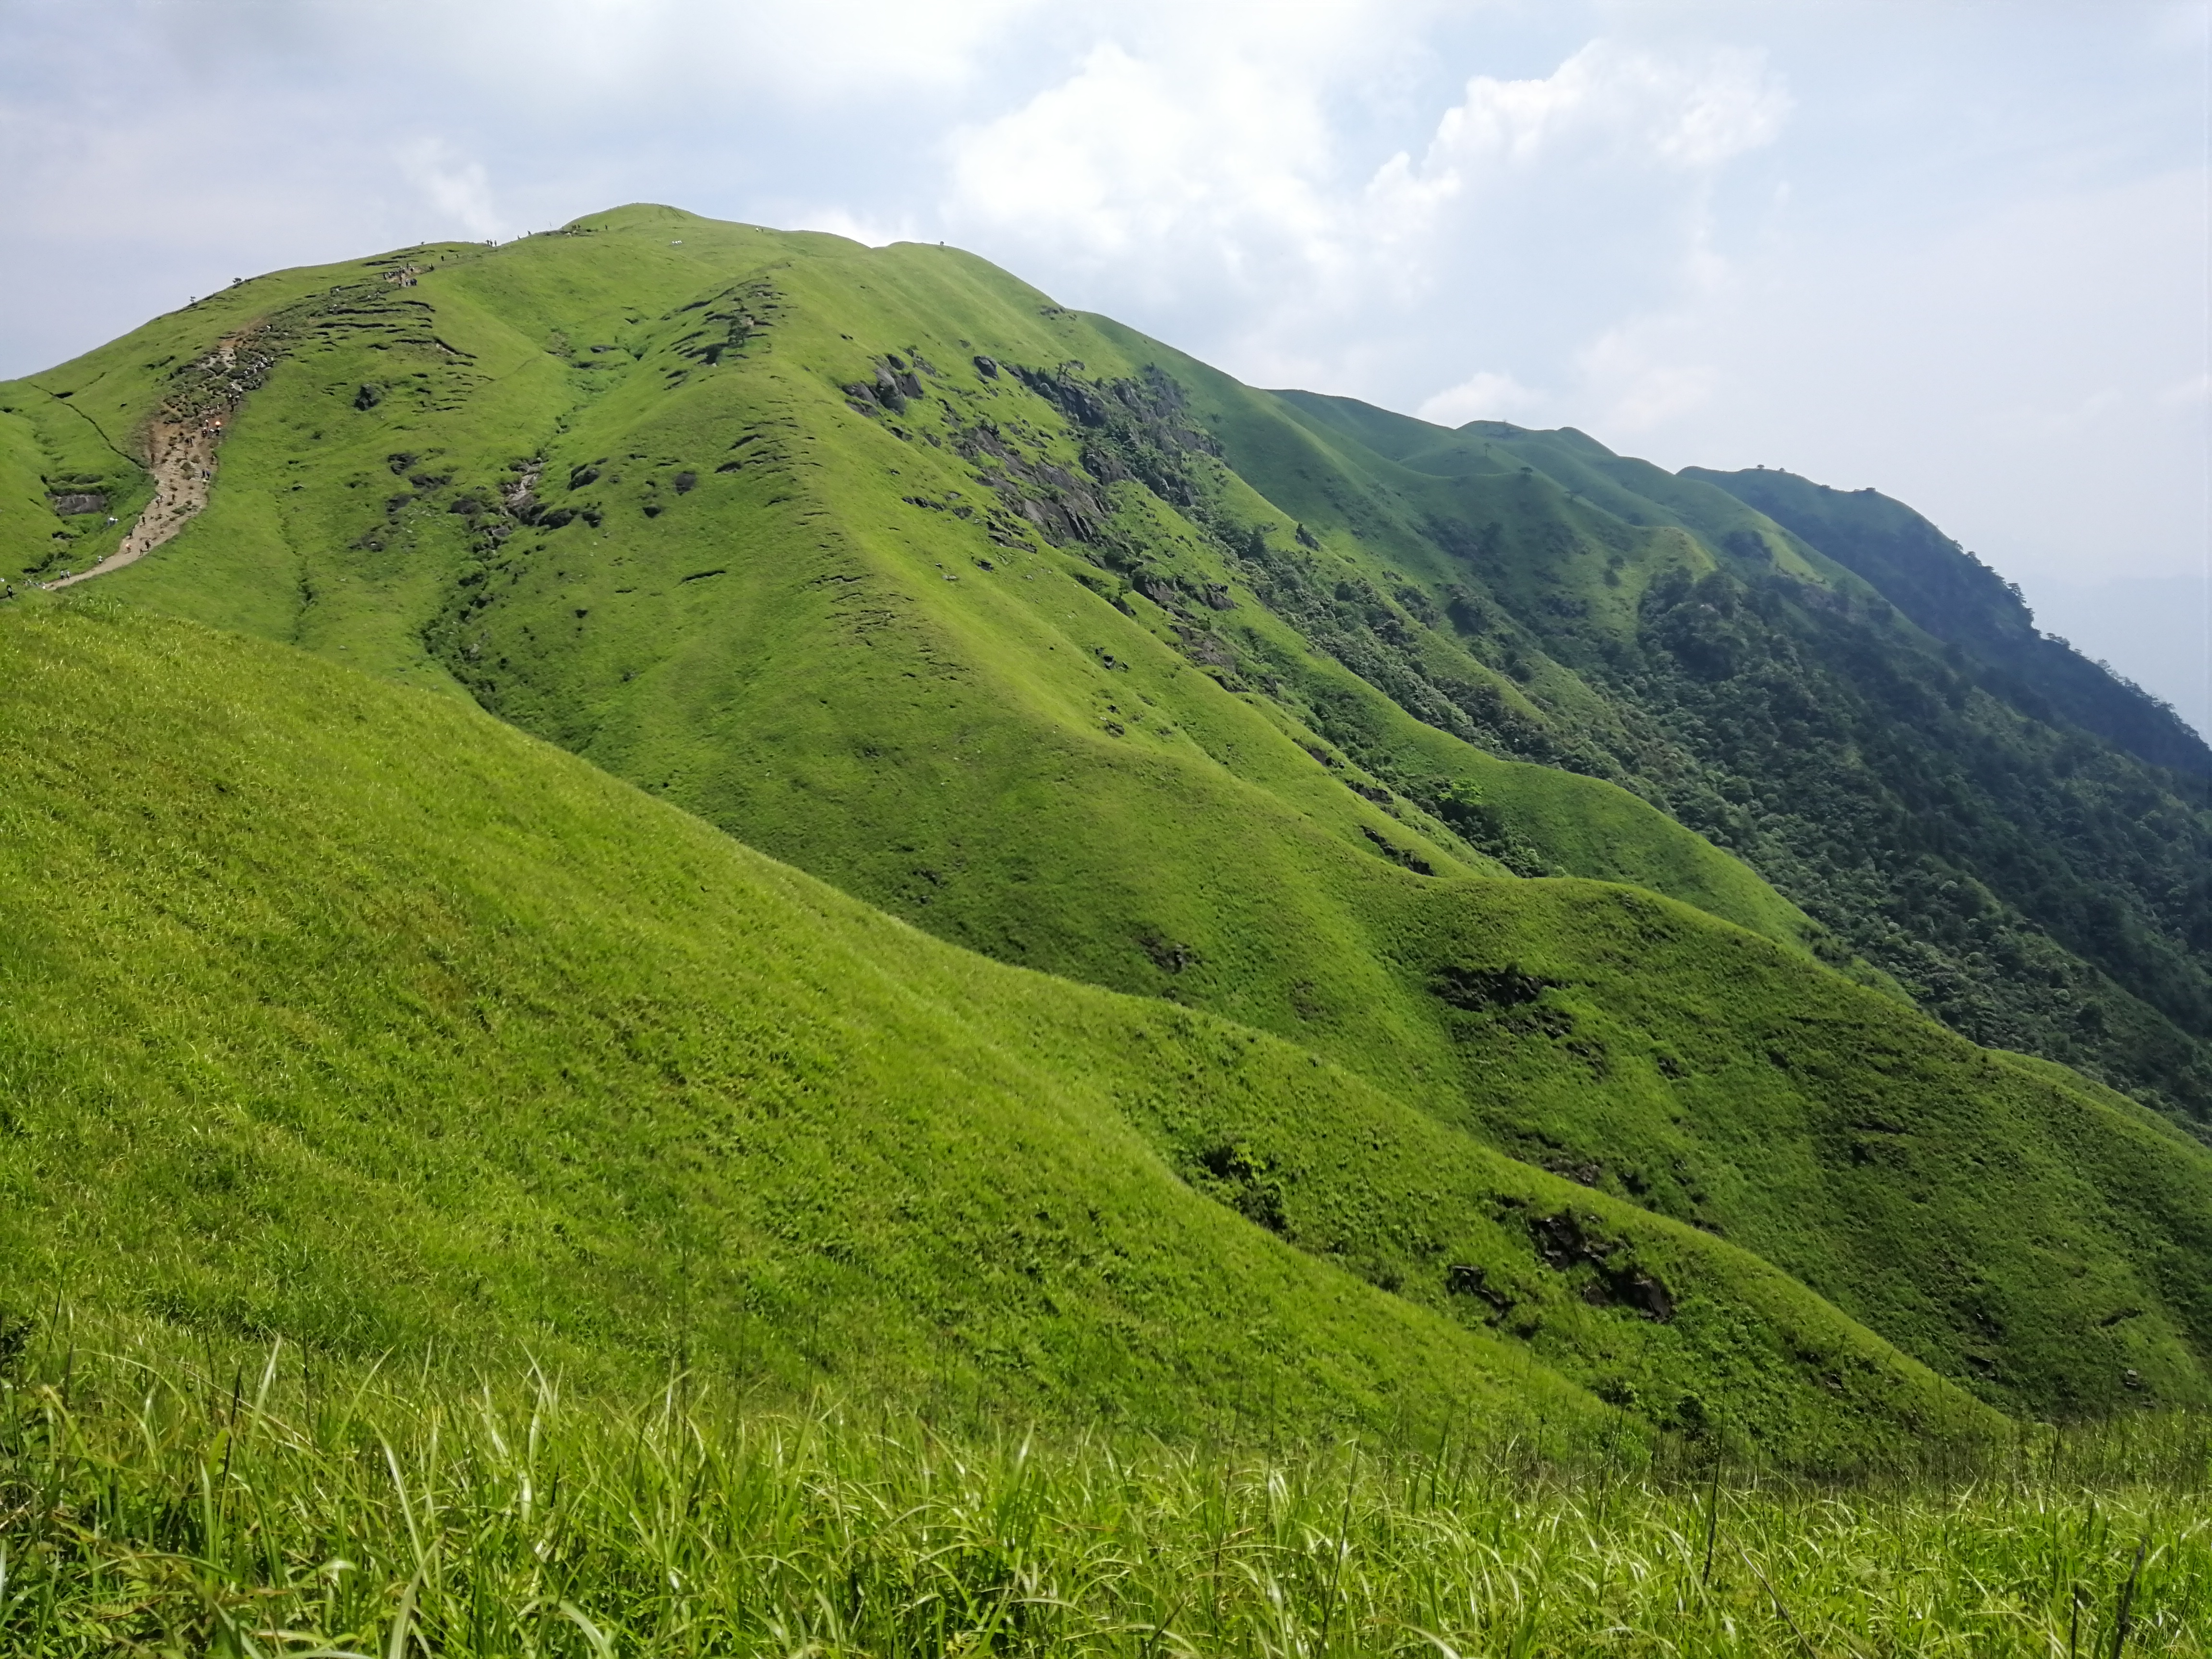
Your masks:
<instances>
[{"instance_id":1,"label":"entire green mountain landscape from foreground grass up to the skyline","mask_svg":"<svg viewBox=\"0 0 2212 1659\"><path fill-rule=\"evenodd\" d=\"M0 577L0 1650L2212 1652L2212 750L1896 500L628 206Z\"/></svg>"}]
</instances>

